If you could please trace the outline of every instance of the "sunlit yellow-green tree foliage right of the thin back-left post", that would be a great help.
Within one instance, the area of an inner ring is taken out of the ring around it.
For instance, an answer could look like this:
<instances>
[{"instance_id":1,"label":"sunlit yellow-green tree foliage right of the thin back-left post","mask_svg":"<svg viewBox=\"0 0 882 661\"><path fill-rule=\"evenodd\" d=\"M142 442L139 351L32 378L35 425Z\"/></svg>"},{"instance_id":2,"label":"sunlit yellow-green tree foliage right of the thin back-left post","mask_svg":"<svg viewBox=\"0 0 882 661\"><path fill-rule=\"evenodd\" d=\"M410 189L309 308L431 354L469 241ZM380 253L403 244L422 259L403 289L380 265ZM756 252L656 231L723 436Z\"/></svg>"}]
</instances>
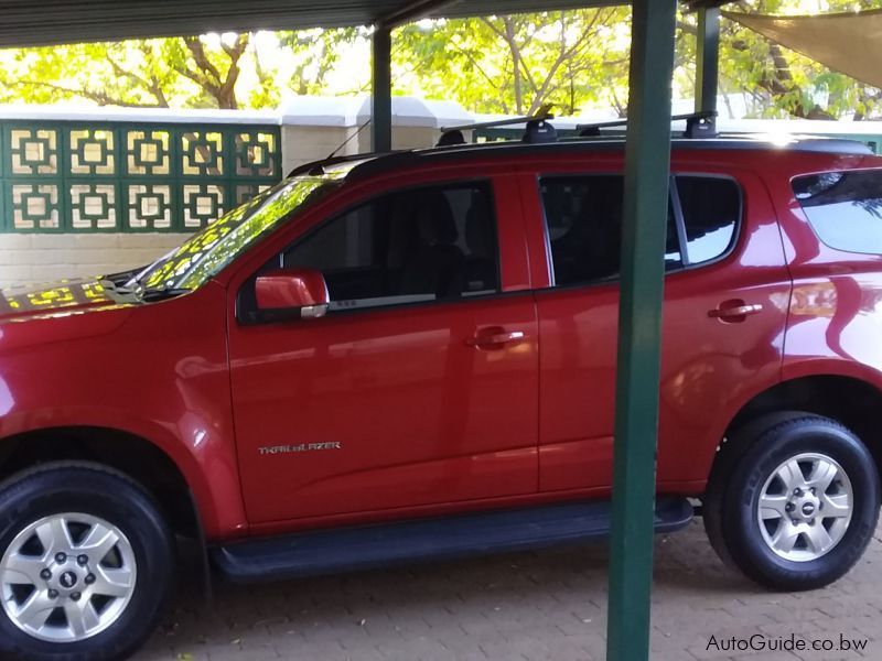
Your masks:
<instances>
[{"instance_id":1,"label":"sunlit yellow-green tree foliage right of the thin back-left post","mask_svg":"<svg viewBox=\"0 0 882 661\"><path fill-rule=\"evenodd\" d=\"M863 0L869 9L879 0ZM854 0L750 0L759 13L852 11ZM424 21L396 34L399 90L453 97L485 112L525 113L552 101L560 113L627 106L626 9ZM742 94L750 116L856 119L882 112L882 93L723 20L720 93ZM696 17L678 19L675 97L695 95ZM434 72L440 73L435 75ZM730 96L725 97L727 99Z\"/></svg>"}]
</instances>

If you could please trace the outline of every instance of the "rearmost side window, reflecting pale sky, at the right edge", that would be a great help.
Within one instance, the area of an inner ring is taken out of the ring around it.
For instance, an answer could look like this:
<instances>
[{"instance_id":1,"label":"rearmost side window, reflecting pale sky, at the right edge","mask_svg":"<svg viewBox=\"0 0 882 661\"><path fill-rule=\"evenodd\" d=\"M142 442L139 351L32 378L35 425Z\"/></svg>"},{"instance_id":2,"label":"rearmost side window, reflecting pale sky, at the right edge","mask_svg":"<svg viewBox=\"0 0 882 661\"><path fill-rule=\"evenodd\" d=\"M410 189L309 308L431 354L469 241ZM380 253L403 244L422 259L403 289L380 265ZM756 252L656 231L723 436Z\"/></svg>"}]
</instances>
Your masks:
<instances>
[{"instance_id":1,"label":"rearmost side window, reflecting pale sky, at the right edge","mask_svg":"<svg viewBox=\"0 0 882 661\"><path fill-rule=\"evenodd\" d=\"M824 243L846 252L882 254L882 170L799 176L793 189Z\"/></svg>"}]
</instances>

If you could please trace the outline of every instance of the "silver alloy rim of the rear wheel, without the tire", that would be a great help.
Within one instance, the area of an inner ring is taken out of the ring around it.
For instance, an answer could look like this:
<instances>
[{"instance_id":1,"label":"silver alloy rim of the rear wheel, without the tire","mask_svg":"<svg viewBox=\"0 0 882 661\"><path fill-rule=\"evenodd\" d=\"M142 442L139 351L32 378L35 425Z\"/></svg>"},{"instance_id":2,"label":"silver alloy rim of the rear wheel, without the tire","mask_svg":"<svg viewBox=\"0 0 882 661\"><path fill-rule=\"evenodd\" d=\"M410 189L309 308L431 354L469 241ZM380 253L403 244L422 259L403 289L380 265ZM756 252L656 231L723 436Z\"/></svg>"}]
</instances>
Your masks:
<instances>
[{"instance_id":1,"label":"silver alloy rim of the rear wheel, without the tire","mask_svg":"<svg viewBox=\"0 0 882 661\"><path fill-rule=\"evenodd\" d=\"M809 562L842 540L853 509L854 491L842 467L827 455L805 453L772 472L756 513L763 540L775 554Z\"/></svg>"}]
</instances>

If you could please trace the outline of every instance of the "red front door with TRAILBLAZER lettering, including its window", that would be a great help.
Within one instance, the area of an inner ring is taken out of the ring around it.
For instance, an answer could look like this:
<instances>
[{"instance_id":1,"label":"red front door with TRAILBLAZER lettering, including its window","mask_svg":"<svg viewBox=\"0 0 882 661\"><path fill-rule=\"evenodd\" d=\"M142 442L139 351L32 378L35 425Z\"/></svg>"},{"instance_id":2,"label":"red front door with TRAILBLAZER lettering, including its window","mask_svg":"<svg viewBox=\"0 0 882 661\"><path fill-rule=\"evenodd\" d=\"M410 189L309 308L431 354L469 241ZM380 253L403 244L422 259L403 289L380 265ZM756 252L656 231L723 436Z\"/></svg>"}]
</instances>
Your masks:
<instances>
[{"instance_id":1,"label":"red front door with TRAILBLAZER lettering, including its window","mask_svg":"<svg viewBox=\"0 0 882 661\"><path fill-rule=\"evenodd\" d=\"M331 306L230 327L251 522L537 490L538 329L513 185L373 195L268 261L322 272Z\"/></svg>"}]
</instances>

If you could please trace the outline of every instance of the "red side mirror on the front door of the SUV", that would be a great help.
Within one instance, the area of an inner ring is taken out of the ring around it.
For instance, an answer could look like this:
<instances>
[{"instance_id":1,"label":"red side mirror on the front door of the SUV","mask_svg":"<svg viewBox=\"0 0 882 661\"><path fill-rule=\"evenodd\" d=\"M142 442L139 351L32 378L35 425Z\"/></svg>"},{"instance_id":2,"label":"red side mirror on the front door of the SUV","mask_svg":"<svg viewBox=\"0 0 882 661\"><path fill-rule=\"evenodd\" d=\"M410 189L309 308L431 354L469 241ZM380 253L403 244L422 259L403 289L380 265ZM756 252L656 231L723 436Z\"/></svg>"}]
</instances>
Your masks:
<instances>
[{"instance_id":1,"label":"red side mirror on the front door of the SUV","mask_svg":"<svg viewBox=\"0 0 882 661\"><path fill-rule=\"evenodd\" d=\"M331 299L324 277L313 269L280 269L258 275L257 308L268 313L299 313L302 318L322 317Z\"/></svg>"}]
</instances>

